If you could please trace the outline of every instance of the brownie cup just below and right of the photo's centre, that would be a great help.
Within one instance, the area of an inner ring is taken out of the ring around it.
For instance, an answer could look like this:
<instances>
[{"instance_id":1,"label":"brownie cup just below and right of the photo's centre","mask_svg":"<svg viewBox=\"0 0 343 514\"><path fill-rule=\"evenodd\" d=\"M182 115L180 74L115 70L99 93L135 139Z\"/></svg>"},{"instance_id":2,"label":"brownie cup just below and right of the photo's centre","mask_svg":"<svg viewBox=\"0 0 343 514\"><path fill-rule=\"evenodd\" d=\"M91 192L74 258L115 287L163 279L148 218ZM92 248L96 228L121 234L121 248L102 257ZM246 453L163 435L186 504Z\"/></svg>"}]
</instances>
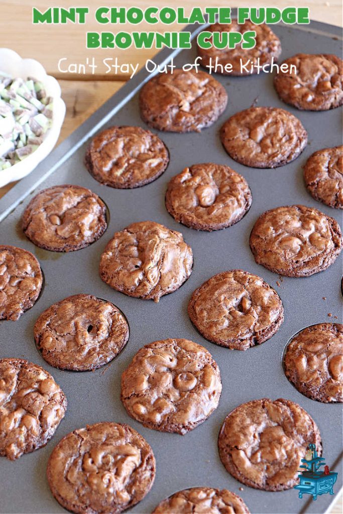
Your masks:
<instances>
[{"instance_id":1,"label":"brownie cup just below and right of the photo's centre","mask_svg":"<svg viewBox=\"0 0 343 514\"><path fill-rule=\"evenodd\" d=\"M236 350L263 343L283 322L278 293L242 269L218 273L195 289L188 314L202 336Z\"/></svg>"}]
</instances>

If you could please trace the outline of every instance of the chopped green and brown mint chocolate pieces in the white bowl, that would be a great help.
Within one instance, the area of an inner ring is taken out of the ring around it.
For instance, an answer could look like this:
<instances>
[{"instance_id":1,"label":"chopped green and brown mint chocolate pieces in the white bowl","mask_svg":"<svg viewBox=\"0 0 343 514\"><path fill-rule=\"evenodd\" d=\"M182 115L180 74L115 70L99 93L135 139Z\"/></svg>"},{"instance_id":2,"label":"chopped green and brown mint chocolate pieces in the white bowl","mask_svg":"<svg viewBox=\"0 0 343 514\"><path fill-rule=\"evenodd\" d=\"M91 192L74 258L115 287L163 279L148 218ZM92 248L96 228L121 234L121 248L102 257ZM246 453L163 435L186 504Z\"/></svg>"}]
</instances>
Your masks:
<instances>
[{"instance_id":1,"label":"chopped green and brown mint chocolate pieces in the white bowl","mask_svg":"<svg viewBox=\"0 0 343 514\"><path fill-rule=\"evenodd\" d=\"M38 149L51 127L53 100L44 84L0 71L0 171Z\"/></svg>"}]
</instances>

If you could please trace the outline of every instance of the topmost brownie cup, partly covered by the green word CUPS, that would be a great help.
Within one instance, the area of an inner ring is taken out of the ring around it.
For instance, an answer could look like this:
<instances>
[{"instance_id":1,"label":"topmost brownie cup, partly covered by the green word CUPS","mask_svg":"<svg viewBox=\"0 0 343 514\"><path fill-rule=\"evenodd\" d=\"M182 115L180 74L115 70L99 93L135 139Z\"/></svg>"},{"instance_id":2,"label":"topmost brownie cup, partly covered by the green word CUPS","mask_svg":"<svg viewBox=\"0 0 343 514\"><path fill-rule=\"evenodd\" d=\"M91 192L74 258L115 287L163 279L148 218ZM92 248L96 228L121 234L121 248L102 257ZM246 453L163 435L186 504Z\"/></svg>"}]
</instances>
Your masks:
<instances>
[{"instance_id":1,"label":"topmost brownie cup, partly covered by the green word CUPS","mask_svg":"<svg viewBox=\"0 0 343 514\"><path fill-rule=\"evenodd\" d=\"M274 34L270 28L262 23L261 25L254 25L250 21L246 21L242 25L237 23L237 20L232 20L232 23L229 25L224 25L220 23L215 23L206 27L206 31L209 32L246 32L246 31L255 31L256 32L256 45L254 48L244 49L242 48L242 43L239 43L235 48L200 48L197 47L198 55L202 58L201 64L203 66L208 66L210 64L214 65L218 63L221 66L218 66L216 72L223 75L251 75L248 71L241 67L242 64L246 64L250 61L249 66L251 64L260 64L267 65L272 62L272 58L274 57L274 62L277 61L278 57L281 53L281 43L277 35ZM213 36L212 36L213 38ZM211 38L211 39L212 39ZM221 35L222 38L222 35ZM211 40L210 39L210 40ZM221 41L221 39L220 39ZM217 59L217 60L216 60ZM258 61L259 60L259 61ZM225 65L231 64L232 70L225 70ZM257 73L257 68L253 68L252 74Z\"/></svg>"}]
</instances>

